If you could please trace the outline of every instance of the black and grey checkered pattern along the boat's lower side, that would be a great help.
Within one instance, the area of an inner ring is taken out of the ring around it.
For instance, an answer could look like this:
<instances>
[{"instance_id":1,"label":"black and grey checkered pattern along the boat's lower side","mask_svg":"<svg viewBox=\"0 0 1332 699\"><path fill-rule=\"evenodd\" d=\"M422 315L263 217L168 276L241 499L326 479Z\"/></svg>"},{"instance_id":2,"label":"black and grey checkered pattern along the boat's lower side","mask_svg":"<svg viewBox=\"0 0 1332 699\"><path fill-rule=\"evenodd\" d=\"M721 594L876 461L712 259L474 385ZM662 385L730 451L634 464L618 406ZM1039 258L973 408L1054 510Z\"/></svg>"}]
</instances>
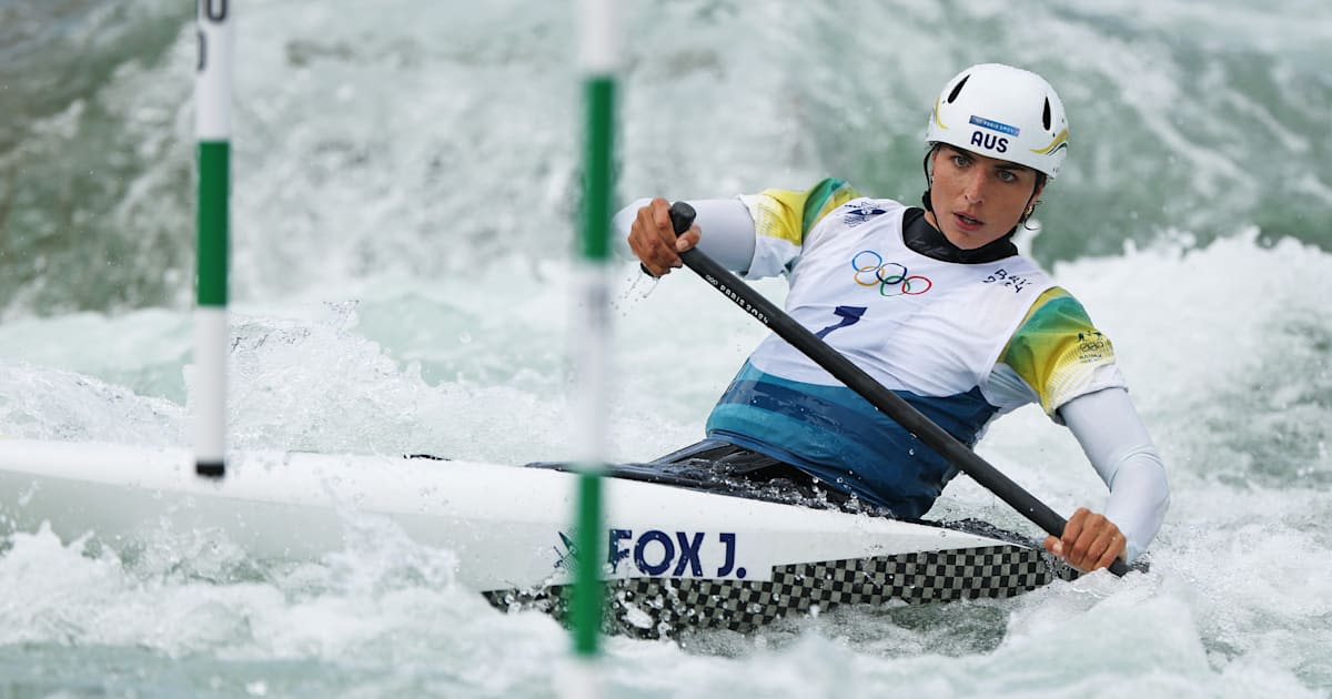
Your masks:
<instances>
[{"instance_id":1,"label":"black and grey checkered pattern along the boat's lower side","mask_svg":"<svg viewBox=\"0 0 1332 699\"><path fill-rule=\"evenodd\" d=\"M986 546L890 557L797 563L773 569L771 581L629 578L610 581L609 631L659 638L686 628L742 634L791 615L839 604L911 604L1006 598L1076 571L1036 549ZM485 592L501 610L539 608L563 616L562 586Z\"/></svg>"}]
</instances>

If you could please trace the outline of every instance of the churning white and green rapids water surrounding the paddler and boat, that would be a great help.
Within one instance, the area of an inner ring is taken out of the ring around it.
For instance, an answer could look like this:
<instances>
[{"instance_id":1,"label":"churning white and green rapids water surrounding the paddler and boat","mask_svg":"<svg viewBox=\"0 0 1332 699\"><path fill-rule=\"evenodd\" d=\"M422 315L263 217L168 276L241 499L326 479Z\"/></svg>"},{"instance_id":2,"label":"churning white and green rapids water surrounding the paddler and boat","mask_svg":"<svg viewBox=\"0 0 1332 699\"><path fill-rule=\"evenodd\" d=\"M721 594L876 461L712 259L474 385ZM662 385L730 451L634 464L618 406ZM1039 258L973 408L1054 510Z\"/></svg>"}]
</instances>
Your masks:
<instances>
[{"instance_id":1,"label":"churning white and green rapids water surrounding the paddler and boat","mask_svg":"<svg viewBox=\"0 0 1332 699\"><path fill-rule=\"evenodd\" d=\"M0 0L0 437L186 442L185 5ZM569 458L573 8L236 5L233 446ZM1332 691L1325 1L625 5L622 202L823 176L915 201L938 85L990 60L1046 75L1074 146L1034 250L1115 341L1173 505L1148 575L611 639L613 695ZM623 264L623 461L697 439L762 338L687 274L646 296L635 277ZM1056 510L1103 498L1039 410L980 451ZM1031 531L966 478L940 513ZM17 534L0 695L553 694L554 622L493 611L448 551L346 530L300 563L190 533L131 550Z\"/></svg>"}]
</instances>

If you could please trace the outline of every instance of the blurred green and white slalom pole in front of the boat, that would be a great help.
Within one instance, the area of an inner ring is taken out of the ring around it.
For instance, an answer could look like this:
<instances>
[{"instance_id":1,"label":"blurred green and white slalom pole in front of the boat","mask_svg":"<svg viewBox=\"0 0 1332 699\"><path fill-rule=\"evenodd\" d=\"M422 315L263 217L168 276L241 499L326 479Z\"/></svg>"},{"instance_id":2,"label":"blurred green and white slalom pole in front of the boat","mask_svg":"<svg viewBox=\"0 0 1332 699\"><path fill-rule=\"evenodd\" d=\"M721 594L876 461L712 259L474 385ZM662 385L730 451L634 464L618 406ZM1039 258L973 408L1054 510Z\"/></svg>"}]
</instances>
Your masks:
<instances>
[{"instance_id":1,"label":"blurred green and white slalom pole in front of the boat","mask_svg":"<svg viewBox=\"0 0 1332 699\"><path fill-rule=\"evenodd\" d=\"M574 413L579 447L578 511L575 515L574 586L570 619L574 670L570 696L598 696L595 672L605 586L606 530L602 525L601 475L607 450L610 394L610 198L615 150L615 0L579 0L578 63L583 73L583 192L578 288L574 300L574 367L578 409Z\"/></svg>"}]
</instances>

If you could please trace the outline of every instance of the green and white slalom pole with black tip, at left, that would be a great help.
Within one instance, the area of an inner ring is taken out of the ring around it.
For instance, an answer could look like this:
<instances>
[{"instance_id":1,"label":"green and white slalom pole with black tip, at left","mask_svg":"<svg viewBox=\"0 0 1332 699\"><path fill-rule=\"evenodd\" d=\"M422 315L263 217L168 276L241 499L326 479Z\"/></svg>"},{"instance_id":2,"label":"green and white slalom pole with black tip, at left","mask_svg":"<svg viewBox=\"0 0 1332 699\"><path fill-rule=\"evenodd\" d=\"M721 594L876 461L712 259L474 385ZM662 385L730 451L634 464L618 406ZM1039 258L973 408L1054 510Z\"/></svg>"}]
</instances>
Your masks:
<instances>
[{"instance_id":1,"label":"green and white slalom pole with black tip, at left","mask_svg":"<svg viewBox=\"0 0 1332 699\"><path fill-rule=\"evenodd\" d=\"M197 305L194 306L194 471L226 473L226 256L230 218L232 13L230 0L198 1Z\"/></svg>"}]
</instances>

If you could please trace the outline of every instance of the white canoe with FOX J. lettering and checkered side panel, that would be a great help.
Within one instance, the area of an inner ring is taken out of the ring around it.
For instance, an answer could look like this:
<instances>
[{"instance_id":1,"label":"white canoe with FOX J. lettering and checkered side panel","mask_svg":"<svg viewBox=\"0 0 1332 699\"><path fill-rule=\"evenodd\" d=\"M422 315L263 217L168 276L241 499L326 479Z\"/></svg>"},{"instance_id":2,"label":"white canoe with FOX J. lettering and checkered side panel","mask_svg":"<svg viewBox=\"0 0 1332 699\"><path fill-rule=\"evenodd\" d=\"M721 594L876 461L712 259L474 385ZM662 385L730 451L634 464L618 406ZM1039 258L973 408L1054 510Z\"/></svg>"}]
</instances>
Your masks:
<instances>
[{"instance_id":1,"label":"white canoe with FOX J. lettering and checkered side panel","mask_svg":"<svg viewBox=\"0 0 1332 699\"><path fill-rule=\"evenodd\" d=\"M184 449L0 441L0 533L48 523L112 549L200 530L258 559L342 550L349 514L392 519L458 558L497 607L561 615L577 475L430 457L246 451L226 478ZM813 607L1010 596L1068 577L995 531L766 502L629 478L605 482L613 619L655 636L749 632Z\"/></svg>"}]
</instances>

